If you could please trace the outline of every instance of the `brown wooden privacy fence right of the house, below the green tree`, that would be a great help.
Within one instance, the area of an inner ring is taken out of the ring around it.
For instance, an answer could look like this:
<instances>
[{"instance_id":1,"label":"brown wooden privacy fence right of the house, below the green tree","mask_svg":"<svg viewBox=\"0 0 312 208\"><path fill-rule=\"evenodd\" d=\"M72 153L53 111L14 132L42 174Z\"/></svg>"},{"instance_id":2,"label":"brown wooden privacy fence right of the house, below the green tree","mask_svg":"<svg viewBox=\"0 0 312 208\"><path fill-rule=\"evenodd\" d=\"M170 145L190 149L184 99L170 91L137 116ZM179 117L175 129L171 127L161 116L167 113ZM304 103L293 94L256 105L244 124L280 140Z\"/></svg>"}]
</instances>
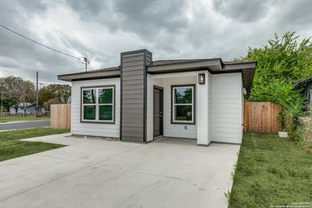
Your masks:
<instances>
[{"instance_id":1,"label":"brown wooden privacy fence right of the house, below the green tree","mask_svg":"<svg viewBox=\"0 0 312 208\"><path fill-rule=\"evenodd\" d=\"M281 105L274 103L244 104L244 131L255 133L277 133L281 130L279 122Z\"/></svg>"}]
</instances>

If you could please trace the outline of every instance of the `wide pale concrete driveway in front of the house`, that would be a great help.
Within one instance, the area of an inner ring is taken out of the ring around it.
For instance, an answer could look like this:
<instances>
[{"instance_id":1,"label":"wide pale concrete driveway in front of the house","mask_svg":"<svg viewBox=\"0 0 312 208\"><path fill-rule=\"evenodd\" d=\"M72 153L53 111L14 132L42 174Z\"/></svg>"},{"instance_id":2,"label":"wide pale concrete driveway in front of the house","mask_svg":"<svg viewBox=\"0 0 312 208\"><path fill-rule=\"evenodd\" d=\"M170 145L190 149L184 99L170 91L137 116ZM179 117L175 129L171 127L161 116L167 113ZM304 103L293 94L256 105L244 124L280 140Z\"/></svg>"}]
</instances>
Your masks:
<instances>
[{"instance_id":1,"label":"wide pale concrete driveway in front of the house","mask_svg":"<svg viewBox=\"0 0 312 208\"><path fill-rule=\"evenodd\" d=\"M26 140L69 146L0 162L0 207L227 207L240 148Z\"/></svg>"}]
</instances>

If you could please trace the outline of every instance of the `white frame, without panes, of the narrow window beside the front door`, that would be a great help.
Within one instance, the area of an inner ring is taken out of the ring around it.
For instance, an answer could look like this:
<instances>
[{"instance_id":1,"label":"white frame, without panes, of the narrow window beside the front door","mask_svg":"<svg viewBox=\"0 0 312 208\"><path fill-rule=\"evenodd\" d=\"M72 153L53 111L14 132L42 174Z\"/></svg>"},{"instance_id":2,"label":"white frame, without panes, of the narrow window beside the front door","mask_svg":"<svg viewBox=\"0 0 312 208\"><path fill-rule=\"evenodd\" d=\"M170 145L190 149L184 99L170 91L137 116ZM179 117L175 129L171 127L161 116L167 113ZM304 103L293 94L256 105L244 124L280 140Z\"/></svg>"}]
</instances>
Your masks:
<instances>
[{"instance_id":1,"label":"white frame, without panes, of the narrow window beside the front door","mask_svg":"<svg viewBox=\"0 0 312 208\"><path fill-rule=\"evenodd\" d=\"M171 124L194 124L195 125L195 86L194 85L173 85L171 87L172 89L172 119L171 119ZM181 88L191 88L192 89L192 102L191 103L175 103L175 89L181 89ZM175 120L175 106L177 105L190 105L192 107L192 119L191 121L181 121L181 120Z\"/></svg>"}]
</instances>

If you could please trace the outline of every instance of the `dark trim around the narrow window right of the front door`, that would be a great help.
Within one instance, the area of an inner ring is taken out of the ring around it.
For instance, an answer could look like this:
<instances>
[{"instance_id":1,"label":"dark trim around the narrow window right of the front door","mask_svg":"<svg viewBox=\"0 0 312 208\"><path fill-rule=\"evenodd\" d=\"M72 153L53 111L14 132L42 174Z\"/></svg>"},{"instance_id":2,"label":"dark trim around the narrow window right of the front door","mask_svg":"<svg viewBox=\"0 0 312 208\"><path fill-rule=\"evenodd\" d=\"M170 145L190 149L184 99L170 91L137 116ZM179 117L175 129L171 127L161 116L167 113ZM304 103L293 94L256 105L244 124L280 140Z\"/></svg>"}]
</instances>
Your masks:
<instances>
[{"instance_id":1,"label":"dark trim around the narrow window right of the front door","mask_svg":"<svg viewBox=\"0 0 312 208\"><path fill-rule=\"evenodd\" d=\"M175 121L173 114L175 113L174 109L174 94L173 89L178 87L193 87L193 121ZM196 84L188 84L188 85L171 85L171 124L183 124L183 125L196 125Z\"/></svg>"}]
</instances>

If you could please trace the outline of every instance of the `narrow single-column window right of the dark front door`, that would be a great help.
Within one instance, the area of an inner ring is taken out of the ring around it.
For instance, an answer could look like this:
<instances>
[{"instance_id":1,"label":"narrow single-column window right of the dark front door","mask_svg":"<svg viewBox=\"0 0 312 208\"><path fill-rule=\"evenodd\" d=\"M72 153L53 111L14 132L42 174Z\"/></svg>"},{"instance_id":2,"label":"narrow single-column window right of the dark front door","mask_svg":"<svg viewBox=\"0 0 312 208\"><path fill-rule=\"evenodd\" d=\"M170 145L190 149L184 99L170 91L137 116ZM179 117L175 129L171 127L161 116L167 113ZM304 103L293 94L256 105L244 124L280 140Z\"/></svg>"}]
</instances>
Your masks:
<instances>
[{"instance_id":1,"label":"narrow single-column window right of the dark front door","mask_svg":"<svg viewBox=\"0 0 312 208\"><path fill-rule=\"evenodd\" d=\"M171 86L171 123L195 124L195 85Z\"/></svg>"}]
</instances>

